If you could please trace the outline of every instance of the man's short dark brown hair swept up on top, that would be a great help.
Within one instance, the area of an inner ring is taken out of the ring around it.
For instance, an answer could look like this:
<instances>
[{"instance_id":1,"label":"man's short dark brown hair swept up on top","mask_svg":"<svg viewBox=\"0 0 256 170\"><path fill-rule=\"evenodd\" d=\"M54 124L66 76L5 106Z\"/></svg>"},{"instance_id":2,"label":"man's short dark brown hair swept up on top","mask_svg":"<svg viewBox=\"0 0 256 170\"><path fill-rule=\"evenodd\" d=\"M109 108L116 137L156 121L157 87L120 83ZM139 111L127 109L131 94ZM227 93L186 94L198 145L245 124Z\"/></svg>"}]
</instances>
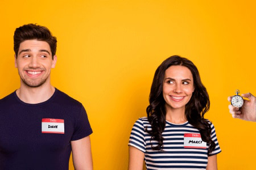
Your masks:
<instances>
[{"instance_id":1,"label":"man's short dark brown hair swept up on top","mask_svg":"<svg viewBox=\"0 0 256 170\"><path fill-rule=\"evenodd\" d=\"M20 43L26 40L46 41L51 48L52 59L56 54L57 39L52 36L52 33L47 27L37 24L26 24L16 28L14 32L14 52L16 57L18 57Z\"/></svg>"}]
</instances>

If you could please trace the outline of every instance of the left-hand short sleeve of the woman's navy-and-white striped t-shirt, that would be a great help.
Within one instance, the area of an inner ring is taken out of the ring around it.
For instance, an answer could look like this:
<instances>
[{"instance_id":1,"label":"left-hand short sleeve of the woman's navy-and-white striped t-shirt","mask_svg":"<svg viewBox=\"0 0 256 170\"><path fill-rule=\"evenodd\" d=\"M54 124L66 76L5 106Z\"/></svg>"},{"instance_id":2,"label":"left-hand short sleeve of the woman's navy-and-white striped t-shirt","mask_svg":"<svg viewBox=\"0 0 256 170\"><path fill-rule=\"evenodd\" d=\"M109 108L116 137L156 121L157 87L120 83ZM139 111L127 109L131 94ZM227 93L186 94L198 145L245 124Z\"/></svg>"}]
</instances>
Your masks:
<instances>
[{"instance_id":1,"label":"left-hand short sleeve of the woman's navy-and-white striped t-shirt","mask_svg":"<svg viewBox=\"0 0 256 170\"><path fill-rule=\"evenodd\" d=\"M145 131L141 118L139 118L135 122L135 124L133 125L133 129L131 129L131 135L128 145L136 147L142 152L146 152Z\"/></svg>"}]
</instances>

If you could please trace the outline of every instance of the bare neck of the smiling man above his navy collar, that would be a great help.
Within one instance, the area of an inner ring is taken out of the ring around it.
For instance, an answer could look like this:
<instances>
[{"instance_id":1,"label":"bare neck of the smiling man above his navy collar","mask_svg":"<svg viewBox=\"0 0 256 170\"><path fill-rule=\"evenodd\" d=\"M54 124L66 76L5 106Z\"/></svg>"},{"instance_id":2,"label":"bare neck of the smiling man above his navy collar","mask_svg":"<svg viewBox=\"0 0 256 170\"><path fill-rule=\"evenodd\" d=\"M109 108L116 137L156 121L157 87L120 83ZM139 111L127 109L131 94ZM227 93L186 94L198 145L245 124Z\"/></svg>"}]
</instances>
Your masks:
<instances>
[{"instance_id":1,"label":"bare neck of the smiling man above his navy collar","mask_svg":"<svg viewBox=\"0 0 256 170\"><path fill-rule=\"evenodd\" d=\"M16 95L24 103L36 104L48 100L54 92L55 88L51 85L42 85L40 87L20 86L20 88L16 90Z\"/></svg>"}]
</instances>

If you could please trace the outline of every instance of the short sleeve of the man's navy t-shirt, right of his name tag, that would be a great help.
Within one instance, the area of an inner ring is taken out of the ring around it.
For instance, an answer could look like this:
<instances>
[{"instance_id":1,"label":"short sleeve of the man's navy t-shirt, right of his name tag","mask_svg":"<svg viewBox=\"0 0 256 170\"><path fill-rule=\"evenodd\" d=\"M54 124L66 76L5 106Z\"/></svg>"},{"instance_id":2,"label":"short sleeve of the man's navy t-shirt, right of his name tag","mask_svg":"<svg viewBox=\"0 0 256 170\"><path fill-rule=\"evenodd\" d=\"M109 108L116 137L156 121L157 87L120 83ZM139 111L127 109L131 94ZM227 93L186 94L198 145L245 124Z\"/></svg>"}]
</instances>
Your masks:
<instances>
[{"instance_id":1,"label":"short sleeve of the man's navy t-shirt, right of his name tag","mask_svg":"<svg viewBox=\"0 0 256 170\"><path fill-rule=\"evenodd\" d=\"M81 110L75 117L75 128L71 141L82 139L90 134L92 134L92 128L90 128L90 123L86 111L81 105Z\"/></svg>"}]
</instances>

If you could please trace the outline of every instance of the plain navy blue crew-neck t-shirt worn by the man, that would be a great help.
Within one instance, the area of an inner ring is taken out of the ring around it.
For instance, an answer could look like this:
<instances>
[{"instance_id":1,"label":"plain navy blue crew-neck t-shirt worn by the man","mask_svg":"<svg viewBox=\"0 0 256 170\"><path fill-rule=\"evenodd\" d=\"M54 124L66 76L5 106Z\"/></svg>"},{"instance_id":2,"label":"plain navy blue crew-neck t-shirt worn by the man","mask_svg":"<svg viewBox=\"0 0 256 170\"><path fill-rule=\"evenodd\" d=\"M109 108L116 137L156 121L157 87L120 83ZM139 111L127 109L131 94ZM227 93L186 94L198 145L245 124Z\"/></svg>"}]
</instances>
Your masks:
<instances>
[{"instance_id":1,"label":"plain navy blue crew-neck t-shirt worn by the man","mask_svg":"<svg viewBox=\"0 0 256 170\"><path fill-rule=\"evenodd\" d=\"M43 130L44 119L61 120L64 130ZM24 103L13 92L0 100L0 169L68 169L71 141L90 134L82 104L56 88L38 104Z\"/></svg>"}]
</instances>

